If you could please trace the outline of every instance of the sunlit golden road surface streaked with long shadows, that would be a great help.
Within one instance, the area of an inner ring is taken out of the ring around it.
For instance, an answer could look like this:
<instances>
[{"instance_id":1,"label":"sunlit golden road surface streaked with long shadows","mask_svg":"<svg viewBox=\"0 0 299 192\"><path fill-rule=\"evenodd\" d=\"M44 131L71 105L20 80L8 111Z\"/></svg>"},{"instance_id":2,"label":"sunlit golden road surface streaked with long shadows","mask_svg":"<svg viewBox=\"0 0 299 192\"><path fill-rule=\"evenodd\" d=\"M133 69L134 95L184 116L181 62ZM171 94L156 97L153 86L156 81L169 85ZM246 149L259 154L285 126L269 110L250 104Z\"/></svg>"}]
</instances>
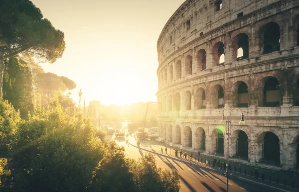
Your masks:
<instances>
[{"instance_id":1,"label":"sunlit golden road surface streaked with long shadows","mask_svg":"<svg viewBox=\"0 0 299 192\"><path fill-rule=\"evenodd\" d=\"M130 138L130 137L129 137ZM128 158L138 159L149 151L139 149L132 145L126 145L124 138L114 138L118 145L125 147L125 153ZM134 138L130 138L132 144L136 144ZM135 142L135 143L134 143ZM149 150L157 151L157 146L143 146L141 147ZM159 152L159 151L158 151ZM168 151L167 151L168 152ZM170 151L169 151L170 152ZM168 155L169 156L169 152ZM164 152L165 154L165 152ZM156 164L163 169L175 169L180 175L181 192L225 192L226 191L226 178L221 173L216 172L213 168L205 166L202 163L194 163L189 160L175 159L164 157L163 155L154 154ZM171 156L173 157L173 156ZM198 165L196 165L198 164ZM252 183L243 181L230 181L230 192L279 192L279 190L269 189L266 187L259 187Z\"/></svg>"}]
</instances>

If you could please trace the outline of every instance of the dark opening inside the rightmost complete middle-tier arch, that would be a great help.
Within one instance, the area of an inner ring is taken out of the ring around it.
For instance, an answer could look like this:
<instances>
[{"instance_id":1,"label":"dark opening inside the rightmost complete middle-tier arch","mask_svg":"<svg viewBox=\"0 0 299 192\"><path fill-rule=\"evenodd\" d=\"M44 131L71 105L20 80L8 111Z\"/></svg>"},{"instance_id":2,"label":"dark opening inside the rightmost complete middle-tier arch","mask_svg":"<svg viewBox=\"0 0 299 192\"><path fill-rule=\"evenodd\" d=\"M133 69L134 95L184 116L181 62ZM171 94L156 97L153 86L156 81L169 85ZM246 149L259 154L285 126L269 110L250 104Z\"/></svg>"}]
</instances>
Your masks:
<instances>
[{"instance_id":1,"label":"dark opening inside the rightmost complete middle-tier arch","mask_svg":"<svg viewBox=\"0 0 299 192\"><path fill-rule=\"evenodd\" d=\"M267 107L280 106L280 100L282 99L281 98L282 96L279 89L279 82L274 77L270 77L267 79L268 80L264 85L264 95L263 95L264 106Z\"/></svg>"}]
</instances>

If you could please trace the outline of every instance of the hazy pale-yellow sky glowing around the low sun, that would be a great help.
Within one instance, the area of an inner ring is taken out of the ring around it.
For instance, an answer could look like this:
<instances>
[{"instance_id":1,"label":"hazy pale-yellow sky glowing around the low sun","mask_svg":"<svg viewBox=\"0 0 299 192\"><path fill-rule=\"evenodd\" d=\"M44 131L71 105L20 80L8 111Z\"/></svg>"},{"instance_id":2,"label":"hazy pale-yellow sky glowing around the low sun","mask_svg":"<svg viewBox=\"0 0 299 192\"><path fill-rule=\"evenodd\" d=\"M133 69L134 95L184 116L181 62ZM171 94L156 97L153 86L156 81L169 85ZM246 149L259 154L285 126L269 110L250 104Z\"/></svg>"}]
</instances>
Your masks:
<instances>
[{"instance_id":1,"label":"hazy pale-yellow sky glowing around the low sun","mask_svg":"<svg viewBox=\"0 0 299 192\"><path fill-rule=\"evenodd\" d=\"M185 0L31 0L65 34L66 49L45 72L65 76L86 103L156 101L156 42Z\"/></svg>"}]
</instances>

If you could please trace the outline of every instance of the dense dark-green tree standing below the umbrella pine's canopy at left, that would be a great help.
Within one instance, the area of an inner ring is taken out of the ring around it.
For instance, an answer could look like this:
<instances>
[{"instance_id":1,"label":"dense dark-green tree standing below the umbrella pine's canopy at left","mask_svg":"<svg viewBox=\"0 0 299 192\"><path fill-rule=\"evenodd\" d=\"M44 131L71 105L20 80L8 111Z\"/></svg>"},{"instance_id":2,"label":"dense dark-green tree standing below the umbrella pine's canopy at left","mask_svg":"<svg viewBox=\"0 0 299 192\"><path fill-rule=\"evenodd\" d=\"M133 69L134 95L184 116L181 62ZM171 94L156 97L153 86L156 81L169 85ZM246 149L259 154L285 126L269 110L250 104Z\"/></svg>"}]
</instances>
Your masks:
<instances>
[{"instance_id":1,"label":"dense dark-green tree standing below the umbrella pine's canopy at left","mask_svg":"<svg viewBox=\"0 0 299 192\"><path fill-rule=\"evenodd\" d=\"M22 118L28 118L28 111L33 111L32 76L29 65L11 57L5 60L3 73L3 99L7 99Z\"/></svg>"}]
</instances>

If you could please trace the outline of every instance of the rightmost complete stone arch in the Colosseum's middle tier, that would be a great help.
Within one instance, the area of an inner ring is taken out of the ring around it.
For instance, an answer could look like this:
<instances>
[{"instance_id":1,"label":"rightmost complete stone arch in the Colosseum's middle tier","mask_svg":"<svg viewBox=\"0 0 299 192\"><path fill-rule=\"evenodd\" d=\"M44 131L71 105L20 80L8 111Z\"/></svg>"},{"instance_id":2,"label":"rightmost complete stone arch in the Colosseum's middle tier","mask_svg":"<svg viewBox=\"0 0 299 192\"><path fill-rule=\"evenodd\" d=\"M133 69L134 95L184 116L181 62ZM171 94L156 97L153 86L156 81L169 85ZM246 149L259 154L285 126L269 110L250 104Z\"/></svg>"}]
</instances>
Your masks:
<instances>
[{"instance_id":1,"label":"rightmost complete stone arch in the Colosseum's middle tier","mask_svg":"<svg viewBox=\"0 0 299 192\"><path fill-rule=\"evenodd\" d=\"M276 77L268 76L261 80L259 105L266 107L280 106L283 103L280 82Z\"/></svg>"}]
</instances>

